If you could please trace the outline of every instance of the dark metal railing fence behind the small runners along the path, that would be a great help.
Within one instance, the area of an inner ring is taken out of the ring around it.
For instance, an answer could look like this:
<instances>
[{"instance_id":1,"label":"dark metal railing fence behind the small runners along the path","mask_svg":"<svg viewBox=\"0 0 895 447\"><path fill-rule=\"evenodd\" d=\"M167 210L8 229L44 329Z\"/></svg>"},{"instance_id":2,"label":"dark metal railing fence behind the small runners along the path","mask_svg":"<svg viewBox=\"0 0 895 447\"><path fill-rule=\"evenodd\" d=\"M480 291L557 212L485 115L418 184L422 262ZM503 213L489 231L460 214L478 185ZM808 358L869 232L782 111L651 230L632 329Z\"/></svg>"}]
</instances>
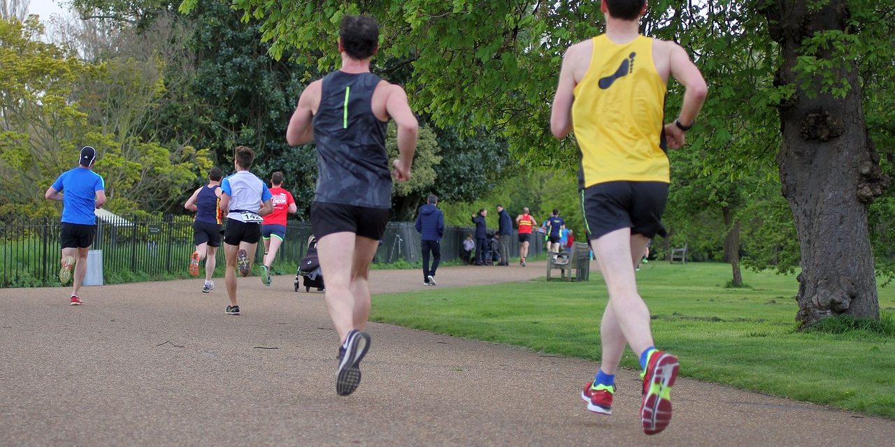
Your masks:
<instances>
[{"instance_id":1,"label":"dark metal railing fence behind the small runners along the path","mask_svg":"<svg viewBox=\"0 0 895 447\"><path fill-rule=\"evenodd\" d=\"M53 219L18 220L0 223L0 287L32 287L58 284L60 223ZM441 240L441 259L461 257L463 240L472 234L470 227L447 227ZM277 252L278 261L294 264L304 257L311 236L310 223L289 223L286 240ZM519 242L514 236L510 257L518 256ZM537 255L543 240L534 238L529 249ZM262 244L255 260L263 257ZM192 245L192 219L165 216L159 219L129 219L98 222L91 249L102 250L106 281L126 282L128 278L183 274L195 247ZM413 223L388 223L374 262L416 263L421 258L420 235ZM217 265L224 265L223 250L217 250Z\"/></svg>"}]
</instances>

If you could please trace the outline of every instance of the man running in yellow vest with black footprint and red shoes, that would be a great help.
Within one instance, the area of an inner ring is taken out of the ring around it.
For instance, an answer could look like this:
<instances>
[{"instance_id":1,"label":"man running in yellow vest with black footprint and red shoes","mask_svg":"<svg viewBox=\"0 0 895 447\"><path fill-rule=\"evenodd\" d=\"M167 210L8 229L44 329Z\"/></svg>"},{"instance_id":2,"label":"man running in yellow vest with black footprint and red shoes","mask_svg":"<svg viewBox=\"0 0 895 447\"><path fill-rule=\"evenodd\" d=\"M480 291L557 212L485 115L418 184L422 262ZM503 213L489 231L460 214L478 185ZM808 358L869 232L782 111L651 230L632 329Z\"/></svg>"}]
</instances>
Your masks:
<instances>
[{"instance_id":1,"label":"man running in yellow vest with black footprint and red shoes","mask_svg":"<svg viewBox=\"0 0 895 447\"><path fill-rule=\"evenodd\" d=\"M683 146L707 88L683 48L639 34L645 0L602 0L601 11L606 33L569 46L550 115L553 135L563 139L575 131L581 148L584 223L609 288L600 370L581 395L592 412L611 413L615 372L630 345L644 368L644 433L656 434L671 420L678 358L653 347L650 311L637 293L634 269L647 241L665 235L665 150ZM686 93L677 119L665 123L669 76Z\"/></svg>"}]
</instances>

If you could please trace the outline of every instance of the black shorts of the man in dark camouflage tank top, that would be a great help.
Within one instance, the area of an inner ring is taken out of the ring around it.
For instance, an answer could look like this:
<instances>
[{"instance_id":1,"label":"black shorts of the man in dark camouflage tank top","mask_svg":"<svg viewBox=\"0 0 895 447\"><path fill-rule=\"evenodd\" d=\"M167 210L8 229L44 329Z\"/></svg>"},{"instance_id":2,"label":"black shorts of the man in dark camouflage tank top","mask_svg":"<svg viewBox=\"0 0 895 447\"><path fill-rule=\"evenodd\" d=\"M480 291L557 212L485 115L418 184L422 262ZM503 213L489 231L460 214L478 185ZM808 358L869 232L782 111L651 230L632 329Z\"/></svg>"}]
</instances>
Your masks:
<instances>
[{"instance_id":1,"label":"black shorts of the man in dark camouflage tank top","mask_svg":"<svg viewBox=\"0 0 895 447\"><path fill-rule=\"evenodd\" d=\"M311 231L318 240L336 232L353 232L371 239L382 240L388 223L387 208L354 207L338 203L311 203Z\"/></svg>"}]
</instances>

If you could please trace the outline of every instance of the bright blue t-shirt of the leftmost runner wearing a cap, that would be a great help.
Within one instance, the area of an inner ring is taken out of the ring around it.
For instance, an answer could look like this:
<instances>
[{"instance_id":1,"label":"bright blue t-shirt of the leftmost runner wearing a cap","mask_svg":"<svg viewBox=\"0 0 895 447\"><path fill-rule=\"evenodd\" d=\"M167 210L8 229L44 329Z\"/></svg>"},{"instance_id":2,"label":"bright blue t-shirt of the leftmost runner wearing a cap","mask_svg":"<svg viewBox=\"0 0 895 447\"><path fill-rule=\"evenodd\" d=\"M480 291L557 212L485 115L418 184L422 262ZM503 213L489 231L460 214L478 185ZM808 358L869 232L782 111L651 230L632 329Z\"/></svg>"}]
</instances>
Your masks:
<instances>
[{"instance_id":1,"label":"bright blue t-shirt of the leftmost runner wearing a cap","mask_svg":"<svg viewBox=\"0 0 895 447\"><path fill-rule=\"evenodd\" d=\"M53 182L53 189L62 191L62 221L96 225L97 191L106 190L106 182L98 173L83 167L66 171Z\"/></svg>"}]
</instances>

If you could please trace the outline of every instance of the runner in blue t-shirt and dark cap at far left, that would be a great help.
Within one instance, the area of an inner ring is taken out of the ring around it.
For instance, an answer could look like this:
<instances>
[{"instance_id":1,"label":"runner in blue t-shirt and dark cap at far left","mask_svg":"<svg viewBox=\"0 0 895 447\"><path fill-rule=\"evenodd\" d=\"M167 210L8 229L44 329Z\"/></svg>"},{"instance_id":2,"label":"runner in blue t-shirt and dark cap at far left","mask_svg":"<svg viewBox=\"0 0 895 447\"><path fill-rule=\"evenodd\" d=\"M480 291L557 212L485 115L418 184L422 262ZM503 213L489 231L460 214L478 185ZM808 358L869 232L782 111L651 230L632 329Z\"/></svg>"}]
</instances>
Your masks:
<instances>
[{"instance_id":1,"label":"runner in blue t-shirt and dark cap at far left","mask_svg":"<svg viewBox=\"0 0 895 447\"><path fill-rule=\"evenodd\" d=\"M44 193L45 198L62 202L62 229L59 235L62 267L59 269L59 281L67 284L72 280L74 270L72 297L69 299L72 306L84 304L78 293L87 274L87 254L97 232L95 210L106 203L106 182L92 171L96 159L97 149L90 146L81 148L78 167L62 173Z\"/></svg>"}]
</instances>

